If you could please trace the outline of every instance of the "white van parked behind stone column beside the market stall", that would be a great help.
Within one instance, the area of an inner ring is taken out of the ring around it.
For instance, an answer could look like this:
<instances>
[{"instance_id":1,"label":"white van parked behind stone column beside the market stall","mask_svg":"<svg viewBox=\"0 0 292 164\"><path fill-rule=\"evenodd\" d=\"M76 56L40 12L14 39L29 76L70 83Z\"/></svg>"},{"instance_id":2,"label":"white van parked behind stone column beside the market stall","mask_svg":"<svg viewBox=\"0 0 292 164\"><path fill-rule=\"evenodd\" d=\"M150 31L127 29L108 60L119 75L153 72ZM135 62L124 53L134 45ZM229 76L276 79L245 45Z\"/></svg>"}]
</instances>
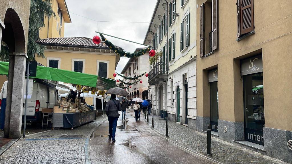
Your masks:
<instances>
[{"instance_id":1,"label":"white van parked behind stone column beside the market stall","mask_svg":"<svg viewBox=\"0 0 292 164\"><path fill-rule=\"evenodd\" d=\"M55 94L54 94L55 93ZM7 97L7 81L4 82L0 93L0 106L3 99ZM55 100L54 100L55 99ZM41 122L43 108L54 108L54 103L60 100L59 91L55 89L55 86L46 83L46 81L33 82L33 90L31 97L27 99L26 110L26 122ZM25 111L25 95L23 96L23 112L22 118L24 118ZM1 110L3 111L3 110ZM23 121L23 119L22 119Z\"/></svg>"}]
</instances>

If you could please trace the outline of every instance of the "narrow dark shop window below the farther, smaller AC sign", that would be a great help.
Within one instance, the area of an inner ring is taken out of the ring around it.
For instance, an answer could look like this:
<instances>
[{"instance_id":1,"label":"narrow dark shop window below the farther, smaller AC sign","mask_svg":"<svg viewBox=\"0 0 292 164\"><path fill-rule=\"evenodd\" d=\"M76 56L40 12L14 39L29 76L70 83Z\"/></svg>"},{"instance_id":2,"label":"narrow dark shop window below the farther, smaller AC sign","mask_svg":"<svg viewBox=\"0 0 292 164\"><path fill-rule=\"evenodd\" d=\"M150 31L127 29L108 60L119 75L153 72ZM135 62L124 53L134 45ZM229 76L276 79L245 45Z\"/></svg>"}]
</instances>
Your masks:
<instances>
[{"instance_id":1,"label":"narrow dark shop window below the farther, smaller AC sign","mask_svg":"<svg viewBox=\"0 0 292 164\"><path fill-rule=\"evenodd\" d=\"M209 83L210 85L210 122L211 130L218 132L218 82Z\"/></svg>"}]
</instances>

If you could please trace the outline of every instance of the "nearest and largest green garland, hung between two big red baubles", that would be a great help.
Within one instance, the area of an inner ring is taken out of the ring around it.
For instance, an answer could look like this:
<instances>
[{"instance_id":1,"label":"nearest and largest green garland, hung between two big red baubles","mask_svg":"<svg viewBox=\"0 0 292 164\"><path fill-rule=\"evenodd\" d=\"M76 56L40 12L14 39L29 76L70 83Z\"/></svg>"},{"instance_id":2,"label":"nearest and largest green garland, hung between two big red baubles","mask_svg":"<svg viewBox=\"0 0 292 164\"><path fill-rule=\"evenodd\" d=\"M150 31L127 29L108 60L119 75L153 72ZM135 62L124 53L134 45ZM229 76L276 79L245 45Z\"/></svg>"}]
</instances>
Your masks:
<instances>
[{"instance_id":1,"label":"nearest and largest green garland, hung between two big red baubles","mask_svg":"<svg viewBox=\"0 0 292 164\"><path fill-rule=\"evenodd\" d=\"M110 41L105 39L105 37L102 34L100 34L100 37L101 37L101 40L105 43L105 45L107 45L111 50L113 50L115 53L117 53L120 56L124 56L128 58L144 55L151 48L151 47L148 47L135 53L129 53L129 52L125 52L122 48L117 48L117 46L113 45Z\"/></svg>"}]
</instances>

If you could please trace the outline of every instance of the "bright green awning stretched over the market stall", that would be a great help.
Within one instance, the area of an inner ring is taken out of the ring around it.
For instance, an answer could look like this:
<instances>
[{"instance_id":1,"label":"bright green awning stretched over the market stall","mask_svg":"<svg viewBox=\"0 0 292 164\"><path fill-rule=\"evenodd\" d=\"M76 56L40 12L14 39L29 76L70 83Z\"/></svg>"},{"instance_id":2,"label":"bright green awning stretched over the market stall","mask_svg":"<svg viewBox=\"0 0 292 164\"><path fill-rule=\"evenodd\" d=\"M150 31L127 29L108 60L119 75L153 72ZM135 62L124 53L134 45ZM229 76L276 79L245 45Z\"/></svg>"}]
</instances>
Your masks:
<instances>
[{"instance_id":1,"label":"bright green awning stretched over the market stall","mask_svg":"<svg viewBox=\"0 0 292 164\"><path fill-rule=\"evenodd\" d=\"M9 62L0 62L0 74L8 75L8 68ZM98 90L108 90L116 86L116 81L113 79L44 66L36 66L36 76L30 78L96 87Z\"/></svg>"}]
</instances>

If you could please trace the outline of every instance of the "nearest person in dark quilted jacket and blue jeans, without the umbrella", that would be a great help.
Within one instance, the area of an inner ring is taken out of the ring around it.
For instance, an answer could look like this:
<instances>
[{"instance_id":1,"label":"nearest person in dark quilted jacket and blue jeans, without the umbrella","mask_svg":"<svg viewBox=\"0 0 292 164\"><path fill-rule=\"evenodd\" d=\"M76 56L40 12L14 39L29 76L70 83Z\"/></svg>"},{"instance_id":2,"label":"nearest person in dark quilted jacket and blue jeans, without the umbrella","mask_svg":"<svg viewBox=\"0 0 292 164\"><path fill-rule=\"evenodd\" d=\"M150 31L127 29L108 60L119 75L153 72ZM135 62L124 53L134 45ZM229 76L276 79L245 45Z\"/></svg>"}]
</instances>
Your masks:
<instances>
[{"instance_id":1,"label":"nearest person in dark quilted jacket and blue jeans, without the umbrella","mask_svg":"<svg viewBox=\"0 0 292 164\"><path fill-rule=\"evenodd\" d=\"M119 111L122 110L121 104L118 100L116 100L116 95L111 95L112 100L107 102L107 106L105 107L105 113L107 114L107 118L109 121L109 139L112 139L112 142L116 142L116 128L117 121L119 119Z\"/></svg>"}]
</instances>

